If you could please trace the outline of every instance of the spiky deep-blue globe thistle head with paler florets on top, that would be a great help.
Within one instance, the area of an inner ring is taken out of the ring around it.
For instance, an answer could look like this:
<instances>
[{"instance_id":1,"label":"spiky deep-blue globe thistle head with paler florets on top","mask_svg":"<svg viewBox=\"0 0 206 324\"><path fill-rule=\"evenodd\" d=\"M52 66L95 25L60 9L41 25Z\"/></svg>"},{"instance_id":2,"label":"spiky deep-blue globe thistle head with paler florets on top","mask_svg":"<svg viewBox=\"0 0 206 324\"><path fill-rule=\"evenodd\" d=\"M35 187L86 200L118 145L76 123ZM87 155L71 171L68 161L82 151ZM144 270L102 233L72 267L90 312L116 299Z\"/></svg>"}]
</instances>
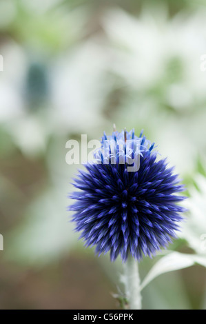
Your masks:
<instances>
[{"instance_id":1,"label":"spiky deep-blue globe thistle head with paler florets on top","mask_svg":"<svg viewBox=\"0 0 206 324\"><path fill-rule=\"evenodd\" d=\"M139 261L166 247L180 229L185 209L177 203L185 196L176 194L183 185L174 168L157 159L154 143L134 130L104 133L94 158L79 170L79 191L70 195L72 221L85 245L110 252L112 261L119 254L126 261L129 253Z\"/></svg>"}]
</instances>

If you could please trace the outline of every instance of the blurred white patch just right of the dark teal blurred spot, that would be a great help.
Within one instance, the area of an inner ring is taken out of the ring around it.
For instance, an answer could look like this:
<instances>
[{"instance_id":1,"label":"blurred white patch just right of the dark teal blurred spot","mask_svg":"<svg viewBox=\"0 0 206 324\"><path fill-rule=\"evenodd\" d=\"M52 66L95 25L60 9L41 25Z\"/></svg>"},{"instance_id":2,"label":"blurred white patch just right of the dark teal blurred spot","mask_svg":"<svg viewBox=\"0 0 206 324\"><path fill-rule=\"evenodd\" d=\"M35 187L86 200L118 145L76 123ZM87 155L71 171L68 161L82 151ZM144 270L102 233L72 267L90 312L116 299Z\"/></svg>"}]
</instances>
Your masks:
<instances>
[{"instance_id":1,"label":"blurred white patch just right of the dark teal blurred spot","mask_svg":"<svg viewBox=\"0 0 206 324\"><path fill-rule=\"evenodd\" d=\"M96 39L85 41L63 55L52 71L52 117L58 127L70 132L93 132L103 127L101 110L109 91L104 73L107 52Z\"/></svg>"}]
</instances>

